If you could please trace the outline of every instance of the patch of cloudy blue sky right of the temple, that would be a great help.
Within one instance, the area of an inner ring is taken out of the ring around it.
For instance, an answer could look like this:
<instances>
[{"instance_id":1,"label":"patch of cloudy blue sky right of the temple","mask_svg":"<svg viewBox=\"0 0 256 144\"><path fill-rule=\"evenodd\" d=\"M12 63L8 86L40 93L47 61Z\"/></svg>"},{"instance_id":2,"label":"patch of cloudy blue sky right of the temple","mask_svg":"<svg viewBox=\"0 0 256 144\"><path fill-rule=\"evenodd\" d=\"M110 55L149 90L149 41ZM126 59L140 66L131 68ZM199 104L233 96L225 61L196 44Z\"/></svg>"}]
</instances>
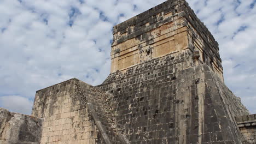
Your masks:
<instances>
[{"instance_id":1,"label":"patch of cloudy blue sky right of the temple","mask_svg":"<svg viewBox=\"0 0 256 144\"><path fill-rule=\"evenodd\" d=\"M191 2L191 3L190 3ZM189 3L219 43L225 83L256 113L255 1L192 1ZM200 4L199 4L200 3ZM215 4L214 4L215 3ZM205 10L205 13L202 12ZM216 14L222 15L222 19ZM219 22L219 25L216 23Z\"/></svg>"}]
</instances>

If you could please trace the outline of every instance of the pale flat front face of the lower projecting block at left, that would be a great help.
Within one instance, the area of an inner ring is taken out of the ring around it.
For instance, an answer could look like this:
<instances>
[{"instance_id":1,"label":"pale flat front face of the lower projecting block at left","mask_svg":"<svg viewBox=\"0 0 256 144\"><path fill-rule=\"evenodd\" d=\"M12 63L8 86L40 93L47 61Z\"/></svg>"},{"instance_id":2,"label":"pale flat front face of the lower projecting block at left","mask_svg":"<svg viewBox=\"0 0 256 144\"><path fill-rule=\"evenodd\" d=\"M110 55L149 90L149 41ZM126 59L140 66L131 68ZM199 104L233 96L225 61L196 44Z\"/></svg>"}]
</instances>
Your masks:
<instances>
[{"instance_id":1,"label":"pale flat front face of the lower projecting block at left","mask_svg":"<svg viewBox=\"0 0 256 144\"><path fill-rule=\"evenodd\" d=\"M32 116L44 118L40 143L97 143L96 125L80 98L75 81L68 80L37 91Z\"/></svg>"}]
</instances>

